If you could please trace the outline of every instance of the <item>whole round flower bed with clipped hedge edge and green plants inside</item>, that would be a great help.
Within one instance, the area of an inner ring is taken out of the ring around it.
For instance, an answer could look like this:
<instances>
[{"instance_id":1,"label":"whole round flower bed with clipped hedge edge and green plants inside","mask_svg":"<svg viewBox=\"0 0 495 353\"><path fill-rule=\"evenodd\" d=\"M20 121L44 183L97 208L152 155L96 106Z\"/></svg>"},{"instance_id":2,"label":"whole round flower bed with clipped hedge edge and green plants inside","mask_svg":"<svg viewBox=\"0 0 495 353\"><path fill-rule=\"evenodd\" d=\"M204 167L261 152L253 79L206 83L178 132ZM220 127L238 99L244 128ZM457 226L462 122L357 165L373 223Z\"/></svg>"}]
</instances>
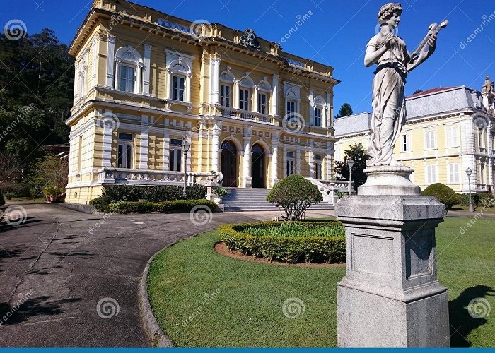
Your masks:
<instances>
[{"instance_id":1,"label":"whole round flower bed with clipped hedge edge and green plants inside","mask_svg":"<svg viewBox=\"0 0 495 353\"><path fill-rule=\"evenodd\" d=\"M231 251L287 263L345 262L345 230L340 222L255 222L219 226Z\"/></svg>"}]
</instances>

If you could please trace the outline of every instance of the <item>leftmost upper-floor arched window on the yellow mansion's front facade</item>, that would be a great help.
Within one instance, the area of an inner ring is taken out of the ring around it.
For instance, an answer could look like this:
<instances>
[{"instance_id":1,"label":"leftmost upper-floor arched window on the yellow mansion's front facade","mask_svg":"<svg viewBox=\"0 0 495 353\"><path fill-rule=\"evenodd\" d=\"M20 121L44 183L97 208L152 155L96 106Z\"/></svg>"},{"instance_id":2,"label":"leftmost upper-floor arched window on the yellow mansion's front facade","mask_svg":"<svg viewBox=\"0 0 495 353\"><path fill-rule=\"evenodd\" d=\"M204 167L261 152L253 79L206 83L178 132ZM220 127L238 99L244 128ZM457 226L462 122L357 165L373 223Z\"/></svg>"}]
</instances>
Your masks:
<instances>
[{"instance_id":1,"label":"leftmost upper-floor arched window on the yellow mansion's front facade","mask_svg":"<svg viewBox=\"0 0 495 353\"><path fill-rule=\"evenodd\" d=\"M116 90L129 93L141 93L141 71L143 59L139 52L130 45L120 47L115 53Z\"/></svg>"}]
</instances>

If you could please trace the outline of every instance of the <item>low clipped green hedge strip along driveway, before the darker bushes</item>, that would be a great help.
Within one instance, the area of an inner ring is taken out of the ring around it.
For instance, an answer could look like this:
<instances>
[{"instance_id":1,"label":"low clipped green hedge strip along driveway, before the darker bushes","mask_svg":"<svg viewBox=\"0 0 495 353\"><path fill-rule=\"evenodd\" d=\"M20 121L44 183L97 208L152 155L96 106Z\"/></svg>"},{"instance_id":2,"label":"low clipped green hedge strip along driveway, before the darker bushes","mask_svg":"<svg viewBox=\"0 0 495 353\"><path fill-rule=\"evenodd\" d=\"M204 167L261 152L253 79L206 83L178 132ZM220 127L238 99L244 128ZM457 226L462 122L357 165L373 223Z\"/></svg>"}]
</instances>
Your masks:
<instances>
[{"instance_id":1,"label":"low clipped green hedge strip along driveway, before the darker bushes","mask_svg":"<svg viewBox=\"0 0 495 353\"><path fill-rule=\"evenodd\" d=\"M165 202L135 202L122 201L119 203L110 203L105 208L109 213L188 213L198 205L204 205L210 210L215 210L216 203L206 199L201 200L173 200Z\"/></svg>"}]
</instances>

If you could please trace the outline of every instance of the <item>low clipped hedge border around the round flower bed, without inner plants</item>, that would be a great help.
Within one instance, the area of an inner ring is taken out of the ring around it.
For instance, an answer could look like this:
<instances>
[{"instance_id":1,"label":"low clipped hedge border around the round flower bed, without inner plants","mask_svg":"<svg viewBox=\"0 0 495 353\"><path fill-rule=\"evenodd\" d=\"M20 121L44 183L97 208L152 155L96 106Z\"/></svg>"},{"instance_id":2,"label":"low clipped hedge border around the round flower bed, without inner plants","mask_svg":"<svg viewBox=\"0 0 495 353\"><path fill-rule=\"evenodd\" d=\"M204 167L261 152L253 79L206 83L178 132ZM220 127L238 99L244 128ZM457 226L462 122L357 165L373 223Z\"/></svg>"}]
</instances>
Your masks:
<instances>
[{"instance_id":1,"label":"low clipped hedge border around the round flower bed, without inner plants","mask_svg":"<svg viewBox=\"0 0 495 353\"><path fill-rule=\"evenodd\" d=\"M286 263L343 263L346 259L345 237L254 236L243 232L248 227L268 227L283 222L255 222L219 226L220 239L229 250L245 255ZM307 227L342 226L340 222L298 222Z\"/></svg>"}]
</instances>

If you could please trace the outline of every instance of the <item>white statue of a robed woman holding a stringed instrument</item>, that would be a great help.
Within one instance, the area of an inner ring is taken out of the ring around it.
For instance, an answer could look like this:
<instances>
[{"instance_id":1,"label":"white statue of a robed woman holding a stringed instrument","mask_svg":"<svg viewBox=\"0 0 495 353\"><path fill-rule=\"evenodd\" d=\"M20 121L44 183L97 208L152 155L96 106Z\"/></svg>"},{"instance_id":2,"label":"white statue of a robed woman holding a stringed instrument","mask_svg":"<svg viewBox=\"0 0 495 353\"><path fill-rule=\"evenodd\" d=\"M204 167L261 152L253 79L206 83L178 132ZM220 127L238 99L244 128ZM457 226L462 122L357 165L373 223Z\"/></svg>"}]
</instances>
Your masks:
<instances>
[{"instance_id":1,"label":"white statue of a robed woman holding a stringed instrument","mask_svg":"<svg viewBox=\"0 0 495 353\"><path fill-rule=\"evenodd\" d=\"M436 49L436 35L448 21L432 23L424 40L410 54L406 43L395 35L400 23L402 6L397 3L383 5L378 11L380 31L366 46L364 65L377 64L373 79L373 117L368 167L397 166L392 158L395 142L406 122L404 85L407 73L419 66Z\"/></svg>"}]
</instances>

